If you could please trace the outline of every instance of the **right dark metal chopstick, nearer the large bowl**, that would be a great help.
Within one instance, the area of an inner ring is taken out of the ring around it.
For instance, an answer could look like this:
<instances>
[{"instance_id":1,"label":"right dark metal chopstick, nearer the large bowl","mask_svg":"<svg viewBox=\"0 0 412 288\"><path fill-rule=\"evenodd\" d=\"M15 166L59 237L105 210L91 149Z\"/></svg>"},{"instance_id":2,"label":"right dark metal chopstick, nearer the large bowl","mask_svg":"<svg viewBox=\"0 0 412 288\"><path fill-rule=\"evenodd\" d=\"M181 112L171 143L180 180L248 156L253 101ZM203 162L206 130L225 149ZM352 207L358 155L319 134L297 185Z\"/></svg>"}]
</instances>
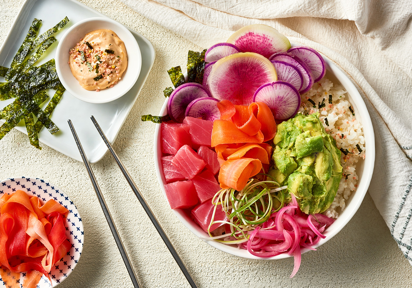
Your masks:
<instances>
[{"instance_id":1,"label":"right dark metal chopstick, nearer the large bowl","mask_svg":"<svg viewBox=\"0 0 412 288\"><path fill-rule=\"evenodd\" d=\"M172 254L173 258L175 258L176 262L178 263L180 269L182 270L183 274L185 275L187 281L189 282L190 286L192 288L197 288L196 283L194 283L192 276L190 276L189 272L187 271L185 264L183 264L182 260L180 259L178 253L174 249L173 245L171 244L169 238L166 236L165 232L163 231L162 227L160 226L159 222L157 221L155 215L153 214L152 210L150 210L150 207L147 205L146 200L143 198L141 195L139 189L136 186L136 183L134 183L133 179L131 178L129 172L127 172L126 168L124 167L122 161L119 159L117 156L117 153L112 147L112 144L108 141L106 138L105 134L101 130L99 124L97 123L96 119L94 116L91 116L91 121L93 121L94 126L96 126L97 131L99 132L100 136L103 138L103 141L105 142L106 146L108 147L110 153L112 153L113 157L115 158L117 165L119 165L120 170L122 170L122 173L124 177L126 178L127 182L129 183L130 187L132 188L134 194L136 195L137 199L139 200L140 204L142 205L143 209L146 211L147 216L149 216L150 221L152 221L153 225L155 225L155 228L157 232L159 232L160 237L162 237L164 244L166 244L167 248L169 249L170 253Z\"/></svg>"}]
</instances>

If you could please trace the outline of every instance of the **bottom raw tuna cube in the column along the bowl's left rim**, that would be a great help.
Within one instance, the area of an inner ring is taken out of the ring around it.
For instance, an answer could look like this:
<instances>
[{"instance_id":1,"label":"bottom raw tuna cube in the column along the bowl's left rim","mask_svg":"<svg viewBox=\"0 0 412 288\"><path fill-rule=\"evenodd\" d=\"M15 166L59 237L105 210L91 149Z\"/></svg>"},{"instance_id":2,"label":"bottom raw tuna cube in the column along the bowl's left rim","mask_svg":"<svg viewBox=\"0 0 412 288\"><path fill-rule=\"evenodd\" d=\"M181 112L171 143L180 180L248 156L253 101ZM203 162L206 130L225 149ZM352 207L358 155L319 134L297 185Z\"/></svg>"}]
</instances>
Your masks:
<instances>
[{"instance_id":1,"label":"bottom raw tuna cube in the column along the bowl's left rim","mask_svg":"<svg viewBox=\"0 0 412 288\"><path fill-rule=\"evenodd\" d=\"M164 184L171 209L189 208L197 204L197 194L192 181Z\"/></svg>"}]
</instances>

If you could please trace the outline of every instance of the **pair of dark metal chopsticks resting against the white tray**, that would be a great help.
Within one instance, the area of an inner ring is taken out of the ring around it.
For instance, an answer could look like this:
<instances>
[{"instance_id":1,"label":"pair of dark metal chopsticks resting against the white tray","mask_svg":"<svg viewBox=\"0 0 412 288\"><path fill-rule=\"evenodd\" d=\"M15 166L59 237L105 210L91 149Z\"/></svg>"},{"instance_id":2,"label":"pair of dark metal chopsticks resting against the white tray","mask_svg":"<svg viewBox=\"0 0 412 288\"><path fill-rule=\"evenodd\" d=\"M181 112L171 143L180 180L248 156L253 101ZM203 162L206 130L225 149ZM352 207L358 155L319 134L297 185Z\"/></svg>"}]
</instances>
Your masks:
<instances>
[{"instance_id":1,"label":"pair of dark metal chopsticks resting against the white tray","mask_svg":"<svg viewBox=\"0 0 412 288\"><path fill-rule=\"evenodd\" d=\"M192 288L197 288L196 284L194 283L192 276L190 276L189 272L187 271L185 265L183 264L182 260L180 259L178 253L174 249L173 245L171 244L169 238L166 236L164 233L162 227L160 226L159 222L157 221L155 215L153 215L152 210L150 210L150 207L147 205L146 200L143 198L141 195L139 189L136 186L136 183L134 183L133 179L131 178L129 172L127 172L126 168L124 167L122 161L119 159L117 156L117 153L112 147L112 144L108 141L106 138L105 134L101 130L99 124L97 123L96 119L94 116L91 116L91 121L93 122L94 126L96 127L97 131L99 132L100 136L103 138L103 141L105 142L106 146L108 147L109 151L112 153L113 157L116 160L117 165L119 165L120 170L122 170L122 173L124 177L126 178L127 182L129 183L130 187L132 188L134 194L136 195L137 199L139 200L140 204L142 205L143 209L145 210L147 216L149 216L150 221L152 221L153 225L155 225L155 228L157 232L159 232L160 237L162 237L164 244L166 244L167 248L169 249L170 253L172 254L173 258L176 260L177 264L179 265L180 269L182 270L183 274L185 275L187 281L189 282L190 286ZM72 121L68 120L70 130L72 131L73 137L75 139L75 142L77 144L77 148L79 149L80 156L82 156L84 165L86 166L87 173L89 173L89 177L91 180L91 183L93 184L93 188L96 191L96 195L98 197L98 200L100 202L100 205L103 209L103 213L106 217L106 220L109 224L110 230L112 231L113 237L115 238L115 242L117 244L117 248L120 251L120 255L122 255L124 264L126 265L127 272L129 272L131 281L133 283L133 286L135 288L140 288L139 282L137 280L136 274L133 270L133 267L131 265L131 262L129 260L129 256L126 253L126 250L124 249L122 239L119 236L119 232L117 232L117 228L115 223L113 222L112 216L110 215L110 211L106 205L106 202L104 200L103 194L101 193L100 187L97 183L96 177L94 176L93 171L91 170L91 166L89 163L89 160L87 160L86 155L84 154L84 150L82 147L82 144L80 143L79 138L77 137L77 133L75 131L75 128L73 127Z\"/></svg>"}]
</instances>

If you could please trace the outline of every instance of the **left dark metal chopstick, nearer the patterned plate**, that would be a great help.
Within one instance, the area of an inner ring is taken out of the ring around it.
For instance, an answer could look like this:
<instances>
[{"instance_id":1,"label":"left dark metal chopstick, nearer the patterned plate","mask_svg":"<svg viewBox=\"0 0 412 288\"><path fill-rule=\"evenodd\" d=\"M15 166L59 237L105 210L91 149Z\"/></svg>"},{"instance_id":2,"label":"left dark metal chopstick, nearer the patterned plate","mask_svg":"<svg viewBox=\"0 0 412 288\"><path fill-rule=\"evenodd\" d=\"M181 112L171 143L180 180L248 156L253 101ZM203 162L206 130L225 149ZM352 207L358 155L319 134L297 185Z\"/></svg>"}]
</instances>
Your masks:
<instances>
[{"instance_id":1,"label":"left dark metal chopstick, nearer the patterned plate","mask_svg":"<svg viewBox=\"0 0 412 288\"><path fill-rule=\"evenodd\" d=\"M110 230L112 231L113 237L115 238L117 248L119 248L120 255L122 255L122 258L123 258L123 261L124 261L124 265L126 265L127 272L129 272L130 279L133 283L133 286L135 288L140 288L139 281L137 280L136 274L134 273L133 267L132 267L132 265L130 263L130 260L129 260L129 256L127 255L126 250L124 249L122 239L120 239L119 232L117 232L116 225L113 222L113 218L110 215L109 209L107 208L107 205L106 205L106 202L104 200L103 194L101 193L100 187L99 187L99 185L96 181L96 177L94 176L94 173L91 170L89 160L87 160L87 157L84 154L82 144L80 143L79 138L77 137L77 133L75 131L75 128L73 127L72 121L68 120L68 123L69 123L69 126L70 126L70 130L72 131L73 137L75 138L77 148L79 149L80 156L82 156L84 165L86 166L87 173L89 173L89 177L90 177L91 183L93 184L93 188L96 191L96 195L97 195L97 198L100 202L100 206L102 207L104 216L106 217L107 223L109 224Z\"/></svg>"}]
</instances>

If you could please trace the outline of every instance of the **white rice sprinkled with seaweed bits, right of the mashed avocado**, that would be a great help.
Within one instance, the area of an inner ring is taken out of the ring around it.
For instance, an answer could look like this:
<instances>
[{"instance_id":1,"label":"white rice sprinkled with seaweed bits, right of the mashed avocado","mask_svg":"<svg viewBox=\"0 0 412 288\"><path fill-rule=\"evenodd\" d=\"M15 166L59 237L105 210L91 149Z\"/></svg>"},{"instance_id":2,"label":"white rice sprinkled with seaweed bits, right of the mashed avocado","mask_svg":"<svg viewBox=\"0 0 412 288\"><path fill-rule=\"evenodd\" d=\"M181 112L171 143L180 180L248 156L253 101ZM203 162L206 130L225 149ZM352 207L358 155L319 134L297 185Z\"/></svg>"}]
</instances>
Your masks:
<instances>
[{"instance_id":1,"label":"white rice sprinkled with seaweed bits, right of the mashed avocado","mask_svg":"<svg viewBox=\"0 0 412 288\"><path fill-rule=\"evenodd\" d=\"M329 103L329 95L332 95L332 104ZM356 190L358 175L356 174L356 163L365 159L365 138L363 137L362 125L356 120L356 115L350 111L350 103L346 100L346 91L342 86L334 85L329 79L323 78L313 85L310 91L302 95L300 110L304 114L320 112L319 118L323 122L325 131L335 140L337 147L349 151L346 156L341 155L343 177L339 183L339 189L325 215L337 218L339 211L345 209L345 200ZM318 109L319 104L325 99L325 107ZM316 105L309 100L315 102ZM316 106L316 107L313 107ZM326 125L325 118L328 119ZM360 152L356 145L362 150Z\"/></svg>"}]
</instances>

